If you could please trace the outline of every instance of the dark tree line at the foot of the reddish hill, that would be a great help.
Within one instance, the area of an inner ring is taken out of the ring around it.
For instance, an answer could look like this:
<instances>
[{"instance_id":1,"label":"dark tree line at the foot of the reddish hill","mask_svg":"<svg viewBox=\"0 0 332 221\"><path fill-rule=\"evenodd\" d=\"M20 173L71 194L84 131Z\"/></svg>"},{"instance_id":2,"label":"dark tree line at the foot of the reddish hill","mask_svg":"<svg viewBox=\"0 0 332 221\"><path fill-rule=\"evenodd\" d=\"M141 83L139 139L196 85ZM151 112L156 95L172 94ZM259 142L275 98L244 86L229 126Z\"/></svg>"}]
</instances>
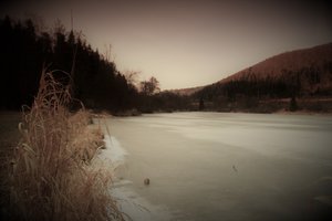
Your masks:
<instances>
[{"instance_id":1,"label":"dark tree line at the foot of the reddish hill","mask_svg":"<svg viewBox=\"0 0 332 221\"><path fill-rule=\"evenodd\" d=\"M297 71L282 70L278 75L262 75L249 70L240 77L206 86L193 96L209 103L211 109L252 110L260 101L331 97L331 82L332 62L325 61L321 66L311 64Z\"/></svg>"}]
</instances>

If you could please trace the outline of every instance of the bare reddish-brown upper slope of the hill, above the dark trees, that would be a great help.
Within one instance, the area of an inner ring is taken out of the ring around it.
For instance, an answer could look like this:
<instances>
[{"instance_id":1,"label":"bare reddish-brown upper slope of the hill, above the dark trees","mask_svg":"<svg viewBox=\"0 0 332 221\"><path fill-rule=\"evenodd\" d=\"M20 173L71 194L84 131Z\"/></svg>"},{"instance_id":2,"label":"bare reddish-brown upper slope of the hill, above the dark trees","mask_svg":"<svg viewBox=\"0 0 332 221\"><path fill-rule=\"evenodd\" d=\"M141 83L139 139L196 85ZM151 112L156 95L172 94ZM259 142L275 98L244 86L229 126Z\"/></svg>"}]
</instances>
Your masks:
<instances>
[{"instance_id":1,"label":"bare reddish-brown upper slope of the hill, above the dark trees","mask_svg":"<svg viewBox=\"0 0 332 221\"><path fill-rule=\"evenodd\" d=\"M276 54L208 85L170 90L168 92L179 95L193 95L215 84L225 84L230 81L252 77L256 80L263 80L266 77L278 78L282 74L286 74L284 72L300 72L304 69L323 70L323 66L329 63L332 65L332 42ZM329 75L329 73L325 73L325 75ZM323 78L328 80L328 82L331 81L332 84L332 77L324 76Z\"/></svg>"}]
</instances>

